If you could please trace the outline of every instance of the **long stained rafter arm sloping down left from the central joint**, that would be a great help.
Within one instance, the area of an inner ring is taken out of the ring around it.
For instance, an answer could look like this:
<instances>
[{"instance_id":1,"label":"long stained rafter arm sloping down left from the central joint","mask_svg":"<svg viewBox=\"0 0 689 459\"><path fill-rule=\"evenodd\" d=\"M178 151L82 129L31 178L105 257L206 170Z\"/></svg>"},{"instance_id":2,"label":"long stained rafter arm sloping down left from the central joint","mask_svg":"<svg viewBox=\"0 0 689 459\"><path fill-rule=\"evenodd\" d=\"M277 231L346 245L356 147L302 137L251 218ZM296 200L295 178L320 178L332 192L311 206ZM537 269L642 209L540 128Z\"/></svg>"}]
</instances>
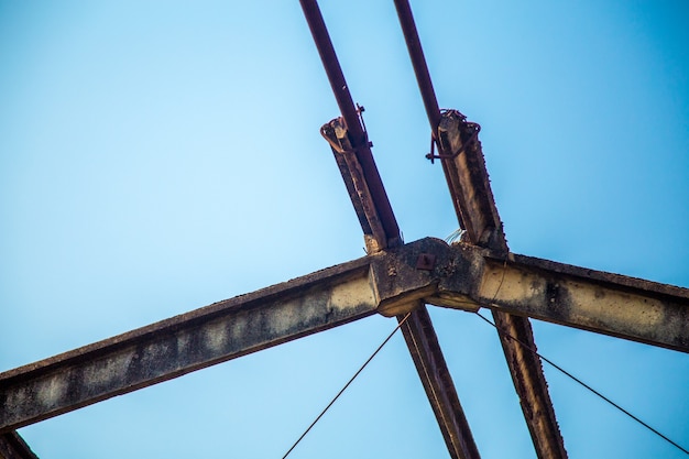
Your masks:
<instances>
[{"instance_id":1,"label":"long stained rafter arm sloping down left from the central joint","mask_svg":"<svg viewBox=\"0 0 689 459\"><path fill-rule=\"evenodd\" d=\"M0 433L375 314L376 258L0 373Z\"/></svg>"}]
</instances>

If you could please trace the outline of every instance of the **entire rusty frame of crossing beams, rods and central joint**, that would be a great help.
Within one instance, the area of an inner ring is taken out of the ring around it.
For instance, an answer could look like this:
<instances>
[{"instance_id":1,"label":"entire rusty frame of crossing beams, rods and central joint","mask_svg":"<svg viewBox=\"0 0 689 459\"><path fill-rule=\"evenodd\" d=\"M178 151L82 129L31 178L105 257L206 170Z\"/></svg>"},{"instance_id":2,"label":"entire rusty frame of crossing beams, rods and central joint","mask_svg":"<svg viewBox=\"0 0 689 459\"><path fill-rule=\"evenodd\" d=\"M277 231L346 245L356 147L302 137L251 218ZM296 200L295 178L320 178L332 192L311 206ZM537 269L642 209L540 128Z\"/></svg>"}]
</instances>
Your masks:
<instances>
[{"instance_id":1,"label":"entire rusty frame of crossing beams, rods and central joint","mask_svg":"<svg viewBox=\"0 0 689 459\"><path fill-rule=\"evenodd\" d=\"M450 457L479 458L426 305L490 308L539 458L566 458L528 318L689 352L689 289L510 253L478 125L441 112L412 11L395 0L461 242L403 243L315 0L300 0L341 111L321 128L368 255L0 374L0 457L35 458L14 431L102 400L375 314L402 331Z\"/></svg>"}]
</instances>

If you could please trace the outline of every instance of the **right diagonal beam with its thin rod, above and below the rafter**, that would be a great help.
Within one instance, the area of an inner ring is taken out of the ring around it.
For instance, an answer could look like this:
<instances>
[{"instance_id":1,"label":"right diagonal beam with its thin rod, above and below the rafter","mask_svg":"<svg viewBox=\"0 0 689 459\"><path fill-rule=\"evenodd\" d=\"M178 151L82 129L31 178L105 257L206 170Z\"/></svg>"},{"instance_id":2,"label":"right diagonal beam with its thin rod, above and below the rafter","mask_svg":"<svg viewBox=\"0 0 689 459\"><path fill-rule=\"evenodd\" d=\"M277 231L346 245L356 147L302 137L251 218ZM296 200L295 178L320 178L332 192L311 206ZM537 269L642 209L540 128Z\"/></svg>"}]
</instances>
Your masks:
<instances>
[{"instance_id":1,"label":"right diagonal beam with its thin rod, above and below the rafter","mask_svg":"<svg viewBox=\"0 0 689 459\"><path fill-rule=\"evenodd\" d=\"M456 111L445 113L448 116L444 119L409 3L407 0L395 0L395 7L460 228L466 230L472 243L507 253L483 153L475 135L477 125L467 123L461 113ZM493 317L501 326L517 334L523 342L536 348L527 318L501 312L493 312ZM567 451L540 360L503 335L499 334L499 337L538 458L566 458Z\"/></svg>"}]
</instances>

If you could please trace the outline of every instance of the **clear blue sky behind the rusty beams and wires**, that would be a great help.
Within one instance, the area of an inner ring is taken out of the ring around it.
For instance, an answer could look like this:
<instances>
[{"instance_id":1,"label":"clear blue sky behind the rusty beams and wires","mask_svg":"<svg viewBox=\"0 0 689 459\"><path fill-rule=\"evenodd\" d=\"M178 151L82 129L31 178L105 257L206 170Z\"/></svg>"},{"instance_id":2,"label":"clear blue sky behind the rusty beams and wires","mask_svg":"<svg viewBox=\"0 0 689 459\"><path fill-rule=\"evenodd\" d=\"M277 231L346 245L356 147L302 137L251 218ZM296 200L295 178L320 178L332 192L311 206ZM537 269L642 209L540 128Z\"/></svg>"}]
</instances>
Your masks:
<instances>
[{"instance_id":1,"label":"clear blue sky behind the rusty beams and wires","mask_svg":"<svg viewBox=\"0 0 689 459\"><path fill-rule=\"evenodd\" d=\"M321 4L406 241L457 229L392 1ZM689 7L415 1L482 125L512 251L689 286ZM362 256L295 1L0 0L0 371ZM534 458L495 330L431 316L483 458ZM369 318L21 429L48 458L282 457L394 328ZM689 357L534 323L689 447ZM571 458L680 451L545 367ZM294 458L441 458L396 336Z\"/></svg>"}]
</instances>

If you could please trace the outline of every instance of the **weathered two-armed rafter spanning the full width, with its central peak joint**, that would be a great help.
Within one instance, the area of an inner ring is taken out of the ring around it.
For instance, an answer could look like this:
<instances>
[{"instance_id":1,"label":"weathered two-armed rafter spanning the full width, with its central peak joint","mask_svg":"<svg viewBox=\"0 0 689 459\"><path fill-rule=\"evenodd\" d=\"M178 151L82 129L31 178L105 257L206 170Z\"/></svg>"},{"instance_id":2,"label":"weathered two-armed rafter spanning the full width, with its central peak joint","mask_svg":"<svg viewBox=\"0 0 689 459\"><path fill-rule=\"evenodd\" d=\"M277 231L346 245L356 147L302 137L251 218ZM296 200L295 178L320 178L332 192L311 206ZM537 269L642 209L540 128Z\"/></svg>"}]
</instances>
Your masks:
<instances>
[{"instance_id":1,"label":"weathered two-armed rafter spanning the full width, with its central peak joint","mask_svg":"<svg viewBox=\"0 0 689 459\"><path fill-rule=\"evenodd\" d=\"M687 288L426 238L0 373L0 434L418 300L689 352ZM420 357L439 356L416 328Z\"/></svg>"}]
</instances>

